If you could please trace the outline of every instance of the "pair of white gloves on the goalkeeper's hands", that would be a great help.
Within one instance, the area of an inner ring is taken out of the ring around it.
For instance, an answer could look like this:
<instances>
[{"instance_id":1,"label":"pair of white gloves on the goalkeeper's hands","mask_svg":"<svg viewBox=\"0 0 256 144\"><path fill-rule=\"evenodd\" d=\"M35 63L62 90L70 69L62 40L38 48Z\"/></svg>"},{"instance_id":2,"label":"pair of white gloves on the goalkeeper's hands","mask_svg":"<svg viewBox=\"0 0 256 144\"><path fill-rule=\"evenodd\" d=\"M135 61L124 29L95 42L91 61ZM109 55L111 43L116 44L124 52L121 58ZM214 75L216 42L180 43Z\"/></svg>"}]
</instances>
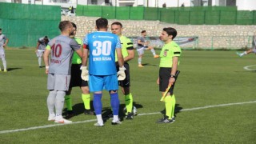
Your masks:
<instances>
[{"instance_id":1,"label":"pair of white gloves on the goalkeeper's hands","mask_svg":"<svg viewBox=\"0 0 256 144\"><path fill-rule=\"evenodd\" d=\"M87 70L86 66L82 66L81 67L82 70L82 74L81 74L81 78L84 81L88 81L89 80L89 71ZM119 71L118 71L118 81L122 81L126 78L126 73L125 73L126 68L124 66L119 67Z\"/></svg>"}]
</instances>

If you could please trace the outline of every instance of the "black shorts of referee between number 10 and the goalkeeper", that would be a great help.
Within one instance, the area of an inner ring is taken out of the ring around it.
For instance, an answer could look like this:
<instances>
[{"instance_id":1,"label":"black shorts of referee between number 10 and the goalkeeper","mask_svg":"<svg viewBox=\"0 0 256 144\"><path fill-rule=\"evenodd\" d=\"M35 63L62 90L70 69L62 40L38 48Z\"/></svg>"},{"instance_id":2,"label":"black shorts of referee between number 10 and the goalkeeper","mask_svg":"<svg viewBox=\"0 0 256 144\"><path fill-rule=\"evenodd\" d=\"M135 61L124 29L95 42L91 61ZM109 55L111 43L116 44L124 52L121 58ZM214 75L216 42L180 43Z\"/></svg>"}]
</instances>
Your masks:
<instances>
[{"instance_id":1,"label":"black shorts of referee between number 10 and the goalkeeper","mask_svg":"<svg viewBox=\"0 0 256 144\"><path fill-rule=\"evenodd\" d=\"M76 86L88 86L88 82L82 80L80 70L81 64L72 64L71 66L71 79L70 79L70 88Z\"/></svg>"}]
</instances>

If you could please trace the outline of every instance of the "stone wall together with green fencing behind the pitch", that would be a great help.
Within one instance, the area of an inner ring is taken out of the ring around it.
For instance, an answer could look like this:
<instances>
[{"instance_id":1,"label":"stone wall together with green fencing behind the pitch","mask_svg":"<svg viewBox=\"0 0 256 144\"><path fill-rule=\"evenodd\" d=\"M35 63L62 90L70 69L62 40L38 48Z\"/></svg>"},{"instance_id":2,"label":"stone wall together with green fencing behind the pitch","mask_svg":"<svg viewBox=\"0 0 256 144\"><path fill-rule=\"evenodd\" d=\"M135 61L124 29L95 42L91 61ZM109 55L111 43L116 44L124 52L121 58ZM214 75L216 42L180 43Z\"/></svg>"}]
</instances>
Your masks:
<instances>
[{"instance_id":1,"label":"stone wall together with green fencing behind the pitch","mask_svg":"<svg viewBox=\"0 0 256 144\"><path fill-rule=\"evenodd\" d=\"M37 39L59 34L58 22L67 19L78 25L78 38L94 31L95 19L108 18L124 24L124 34L158 37L163 27L173 26L178 37L198 37L187 48L241 49L251 47L256 34L256 12L237 10L236 6L195 6L150 8L131 6L81 6L77 17L61 16L60 6L0 3L0 27L10 38L9 46L36 46ZM186 47L186 46L185 46Z\"/></svg>"}]
</instances>

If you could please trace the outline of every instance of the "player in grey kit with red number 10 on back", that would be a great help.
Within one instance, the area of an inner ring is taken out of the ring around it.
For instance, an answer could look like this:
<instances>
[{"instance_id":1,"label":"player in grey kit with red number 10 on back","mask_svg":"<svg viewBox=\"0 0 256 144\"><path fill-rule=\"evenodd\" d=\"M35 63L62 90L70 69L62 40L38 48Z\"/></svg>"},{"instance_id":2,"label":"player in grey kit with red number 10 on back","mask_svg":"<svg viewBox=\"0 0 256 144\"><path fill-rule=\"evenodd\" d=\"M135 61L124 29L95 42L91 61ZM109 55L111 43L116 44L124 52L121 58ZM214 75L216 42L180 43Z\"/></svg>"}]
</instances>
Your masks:
<instances>
[{"instance_id":1,"label":"player in grey kit with red number 10 on back","mask_svg":"<svg viewBox=\"0 0 256 144\"><path fill-rule=\"evenodd\" d=\"M72 121L62 117L62 109L64 106L64 97L70 85L72 55L76 51L81 57L82 50L78 42L70 38L70 34L73 32L73 26L70 21L60 22L58 28L62 34L48 43L43 55L46 64L46 74L48 74L47 90L50 90L47 98L47 107L49 110L48 121L70 123ZM51 55L50 65L49 55ZM54 112L54 108L56 113Z\"/></svg>"}]
</instances>

